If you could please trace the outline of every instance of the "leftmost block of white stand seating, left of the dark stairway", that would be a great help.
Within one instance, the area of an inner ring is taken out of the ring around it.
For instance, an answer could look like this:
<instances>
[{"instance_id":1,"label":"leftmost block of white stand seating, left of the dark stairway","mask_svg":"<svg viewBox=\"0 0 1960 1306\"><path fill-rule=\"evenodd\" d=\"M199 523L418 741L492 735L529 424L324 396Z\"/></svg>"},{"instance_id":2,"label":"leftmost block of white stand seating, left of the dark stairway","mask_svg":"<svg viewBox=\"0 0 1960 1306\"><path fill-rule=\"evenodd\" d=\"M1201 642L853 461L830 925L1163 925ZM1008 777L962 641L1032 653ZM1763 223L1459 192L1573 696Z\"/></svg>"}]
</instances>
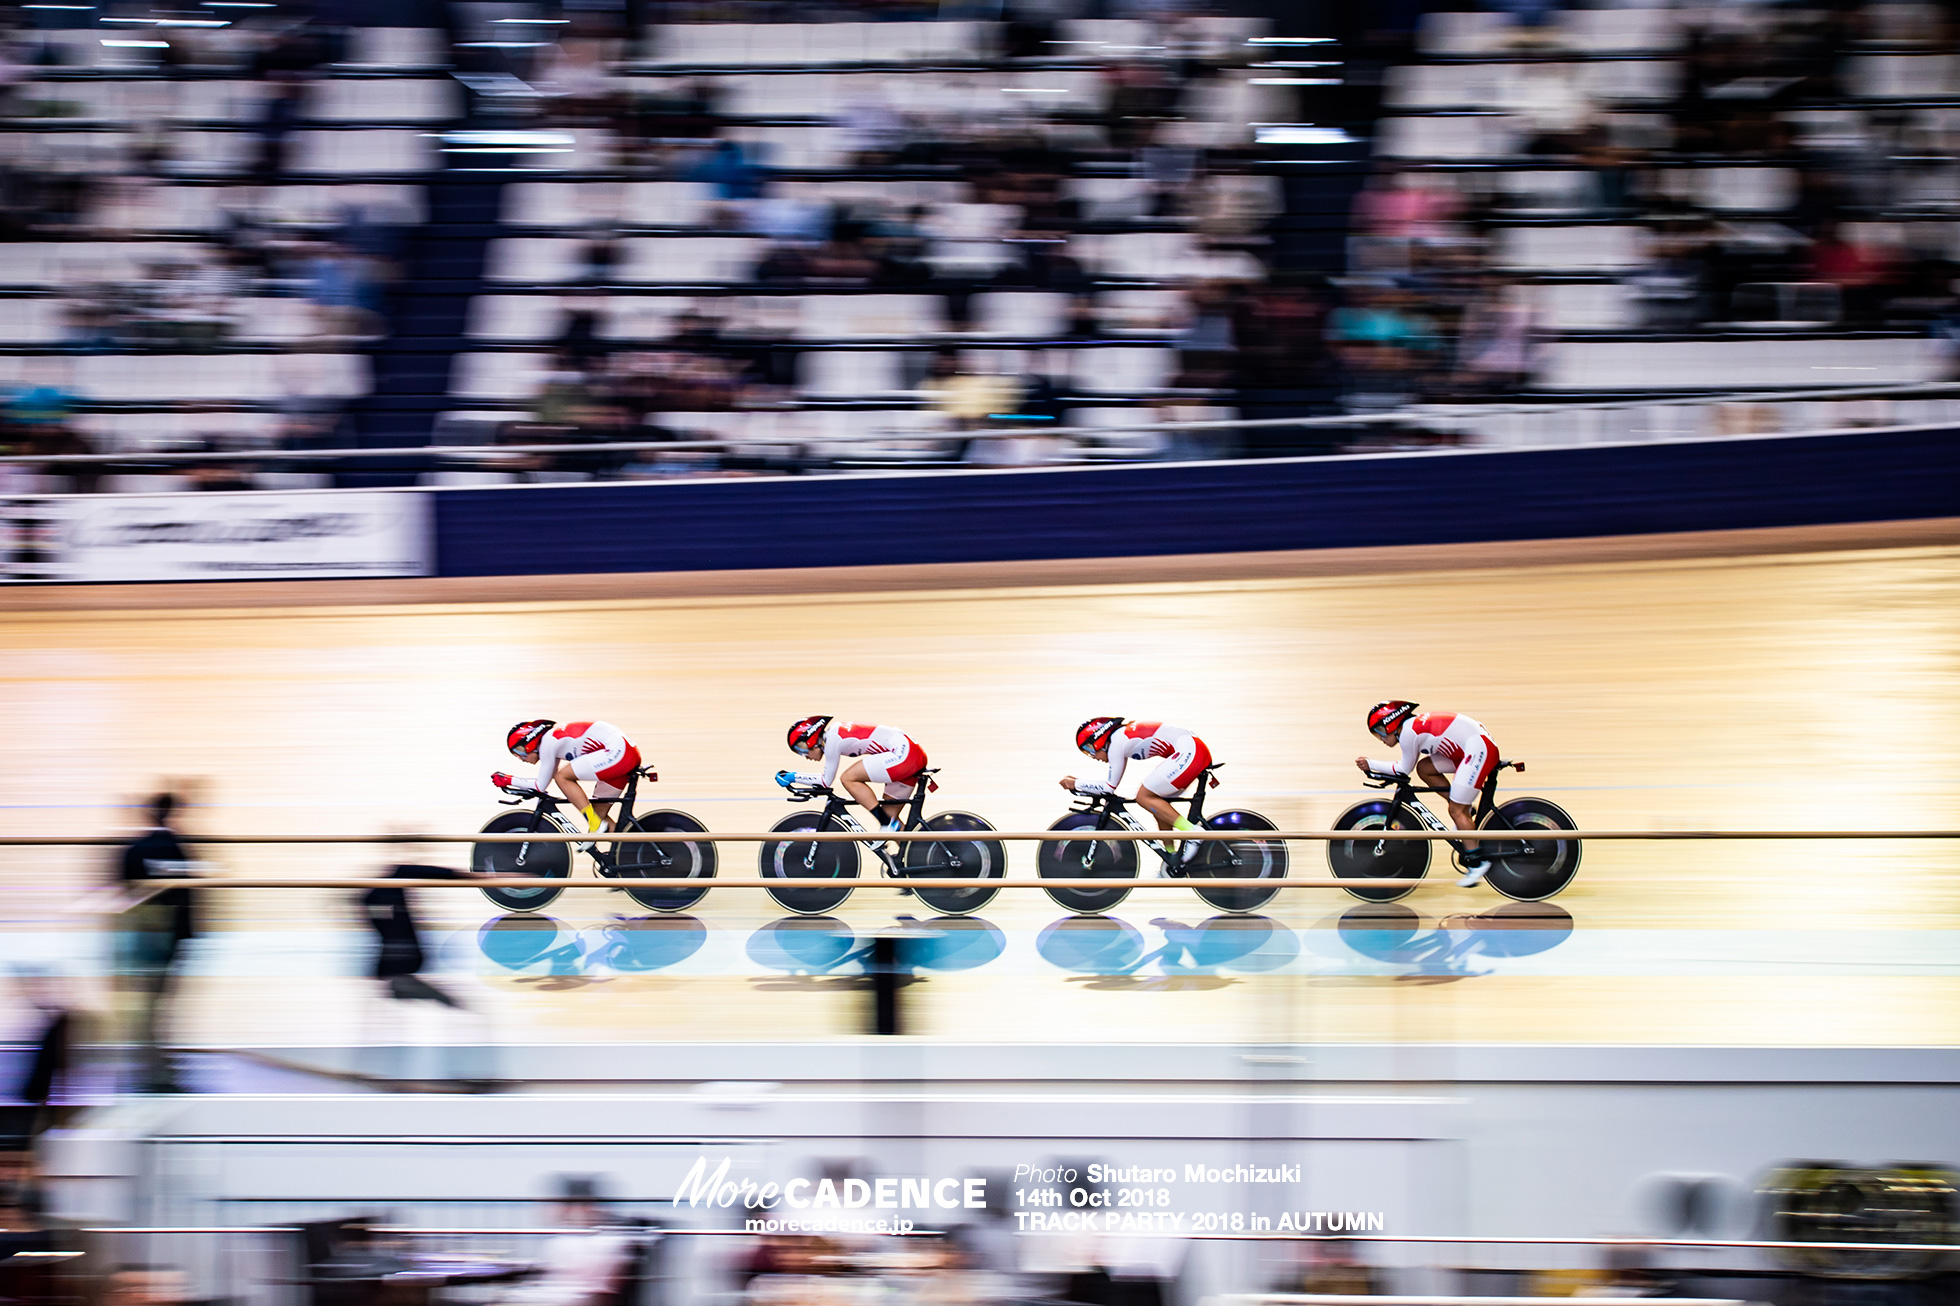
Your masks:
<instances>
[{"instance_id":1,"label":"leftmost block of white stand seating, left of the dark stairway","mask_svg":"<svg viewBox=\"0 0 1960 1306\"><path fill-rule=\"evenodd\" d=\"M49 12L8 37L4 443L131 455L12 490L321 484L276 461L184 477L141 455L355 437L402 233L441 167L431 127L463 94L441 43L410 63L372 29L231 10Z\"/></svg>"}]
</instances>

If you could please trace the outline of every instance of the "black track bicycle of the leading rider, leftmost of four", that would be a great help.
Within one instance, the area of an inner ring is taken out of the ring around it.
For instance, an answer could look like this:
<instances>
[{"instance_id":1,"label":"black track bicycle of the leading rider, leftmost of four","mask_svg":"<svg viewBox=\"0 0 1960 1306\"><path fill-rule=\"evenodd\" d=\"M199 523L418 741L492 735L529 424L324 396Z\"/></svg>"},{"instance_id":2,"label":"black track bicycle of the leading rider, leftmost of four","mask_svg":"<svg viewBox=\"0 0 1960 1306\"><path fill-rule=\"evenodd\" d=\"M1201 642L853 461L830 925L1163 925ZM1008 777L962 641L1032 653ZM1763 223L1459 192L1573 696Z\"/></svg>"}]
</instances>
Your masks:
<instances>
[{"instance_id":1,"label":"black track bicycle of the leading rider, leftmost of four","mask_svg":"<svg viewBox=\"0 0 1960 1306\"><path fill-rule=\"evenodd\" d=\"M631 816L633 800L639 796L639 780L659 780L653 767L639 767L627 777L625 792L613 798L619 833L706 833L708 828L686 812L657 810ZM545 790L504 786L512 798L504 806L523 806L525 812L506 812L482 828L482 833L586 833L584 826L566 816L564 800ZM606 802L604 798L600 802ZM563 880L572 873L572 853L584 851L598 863L600 879L641 880L627 886L625 896L653 912L684 912L708 894L702 880L715 879L715 845L706 839L649 839L645 843L602 843L608 831L590 835L590 843L474 843L470 845L472 871L498 871L504 875L535 875ZM661 880L647 884L645 880ZM563 888L484 888L490 902L506 912L543 912L559 900Z\"/></svg>"}]
</instances>

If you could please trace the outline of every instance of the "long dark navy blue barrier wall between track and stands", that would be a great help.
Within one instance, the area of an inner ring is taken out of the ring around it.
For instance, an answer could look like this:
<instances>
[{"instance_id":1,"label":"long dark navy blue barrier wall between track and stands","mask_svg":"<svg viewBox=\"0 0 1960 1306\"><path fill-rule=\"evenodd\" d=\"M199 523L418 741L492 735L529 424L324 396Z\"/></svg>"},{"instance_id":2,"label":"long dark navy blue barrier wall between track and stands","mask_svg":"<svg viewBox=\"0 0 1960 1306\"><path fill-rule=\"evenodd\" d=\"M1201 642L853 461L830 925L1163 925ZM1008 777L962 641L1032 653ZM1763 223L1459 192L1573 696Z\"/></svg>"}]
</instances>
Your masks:
<instances>
[{"instance_id":1,"label":"long dark navy blue barrier wall between track and stands","mask_svg":"<svg viewBox=\"0 0 1960 1306\"><path fill-rule=\"evenodd\" d=\"M1960 431L435 494L445 577L1239 553L1960 516Z\"/></svg>"}]
</instances>

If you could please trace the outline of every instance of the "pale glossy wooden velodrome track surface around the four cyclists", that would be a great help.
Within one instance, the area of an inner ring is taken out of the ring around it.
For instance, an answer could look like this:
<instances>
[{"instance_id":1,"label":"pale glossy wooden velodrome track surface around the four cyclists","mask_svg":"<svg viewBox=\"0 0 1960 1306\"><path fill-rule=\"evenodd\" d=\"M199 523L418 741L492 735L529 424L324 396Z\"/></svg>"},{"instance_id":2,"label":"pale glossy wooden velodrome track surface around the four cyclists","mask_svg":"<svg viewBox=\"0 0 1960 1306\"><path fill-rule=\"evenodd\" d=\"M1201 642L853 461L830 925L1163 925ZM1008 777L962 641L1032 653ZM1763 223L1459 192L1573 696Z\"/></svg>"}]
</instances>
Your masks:
<instances>
[{"instance_id":1,"label":"pale glossy wooden velodrome track surface around the four cyclists","mask_svg":"<svg viewBox=\"0 0 1960 1306\"><path fill-rule=\"evenodd\" d=\"M1960 826L1960 522L1472 549L696 577L10 590L6 833L96 833L163 779L200 831L474 829L504 729L606 718L661 769L649 804L757 829L790 808L788 722L900 726L941 806L1047 826L1084 716L1200 731L1213 806L1325 828L1364 796L1384 696L1478 716L1586 828ZM463 857L429 847L414 859ZM223 847L255 875L363 875L359 847ZM755 845L727 845L749 875ZM76 910L106 855L4 849L16 965L100 977ZM1319 845L1296 875L1323 875ZM1015 845L1011 869L1031 871ZM580 871L582 875L588 871ZM29 888L25 880L49 888ZM1004 894L907 988L966 1039L1952 1043L1960 847L1595 843L1554 904L1458 890L1403 908L1290 890L1211 922L1184 888L1068 924ZM180 1037L376 1037L347 894L208 896ZM1501 908L1501 910L1499 910ZM864 888L837 922L755 890L686 918L568 892L492 928L423 892L441 982L506 1041L855 1033ZM402 1004L394 1004L402 1006ZM421 1004L417 1004L421 1006ZM4 1022L0 1022L4 1024ZM449 1037L443 1033L431 1037Z\"/></svg>"}]
</instances>

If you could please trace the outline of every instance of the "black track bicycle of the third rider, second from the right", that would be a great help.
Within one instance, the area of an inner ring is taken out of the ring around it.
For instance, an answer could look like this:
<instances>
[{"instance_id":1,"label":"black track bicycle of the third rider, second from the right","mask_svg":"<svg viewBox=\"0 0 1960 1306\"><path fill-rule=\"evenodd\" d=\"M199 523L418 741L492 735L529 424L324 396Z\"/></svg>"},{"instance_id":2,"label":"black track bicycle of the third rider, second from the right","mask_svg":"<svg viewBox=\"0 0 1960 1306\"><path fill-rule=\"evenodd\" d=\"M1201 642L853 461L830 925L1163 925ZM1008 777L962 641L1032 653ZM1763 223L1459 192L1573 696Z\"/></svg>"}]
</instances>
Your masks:
<instances>
[{"instance_id":1,"label":"black track bicycle of the third rider, second from the right","mask_svg":"<svg viewBox=\"0 0 1960 1306\"><path fill-rule=\"evenodd\" d=\"M1186 804L1188 820L1194 826L1203 829L1243 829L1247 831L1245 839L1205 839L1198 845L1198 851L1190 861L1182 859L1178 835L1168 829L1164 831L1162 843L1143 839L1123 839L1119 843L1100 843L1092 839L1045 841L1035 863L1035 873L1045 880L1135 880L1137 867L1143 861L1137 849L1147 847L1164 863L1164 875L1168 879L1203 880L1207 877L1233 877L1284 880L1286 843L1282 839L1264 839L1258 835L1258 831L1278 829L1278 826L1268 822L1258 812L1247 812L1243 808L1229 808L1225 812L1205 816L1205 790L1217 788L1219 780L1213 771L1223 765L1225 763L1211 763L1200 771L1192 796L1172 798L1170 802ZM1076 806L1068 810L1068 816L1049 826L1049 829L1143 829L1143 826L1129 814L1129 808L1131 800L1119 798L1117 794L1082 794ZM1272 888L1205 888L1203 884L1192 884L1192 888L1198 890L1200 898L1221 912L1256 912L1272 902L1274 894L1280 892L1278 884ZM1049 888L1045 892L1070 912L1107 912L1129 896L1129 886Z\"/></svg>"}]
</instances>

